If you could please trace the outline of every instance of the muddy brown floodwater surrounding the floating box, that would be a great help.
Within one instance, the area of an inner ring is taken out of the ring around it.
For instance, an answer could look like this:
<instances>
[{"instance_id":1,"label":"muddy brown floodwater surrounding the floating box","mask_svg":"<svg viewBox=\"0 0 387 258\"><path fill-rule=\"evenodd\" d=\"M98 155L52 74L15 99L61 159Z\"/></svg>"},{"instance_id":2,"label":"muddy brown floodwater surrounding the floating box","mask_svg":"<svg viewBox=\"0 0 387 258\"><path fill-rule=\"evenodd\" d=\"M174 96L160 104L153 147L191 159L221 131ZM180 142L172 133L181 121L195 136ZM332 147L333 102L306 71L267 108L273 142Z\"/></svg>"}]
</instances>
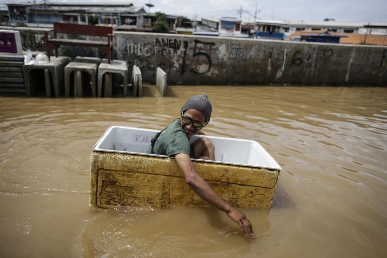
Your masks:
<instances>
[{"instance_id":1,"label":"muddy brown floodwater surrounding the floating box","mask_svg":"<svg viewBox=\"0 0 387 258\"><path fill-rule=\"evenodd\" d=\"M385 257L387 88L173 86L160 97L0 97L1 257ZM161 130L192 95L205 132L282 166L273 208L92 210L90 154L110 125Z\"/></svg>"}]
</instances>

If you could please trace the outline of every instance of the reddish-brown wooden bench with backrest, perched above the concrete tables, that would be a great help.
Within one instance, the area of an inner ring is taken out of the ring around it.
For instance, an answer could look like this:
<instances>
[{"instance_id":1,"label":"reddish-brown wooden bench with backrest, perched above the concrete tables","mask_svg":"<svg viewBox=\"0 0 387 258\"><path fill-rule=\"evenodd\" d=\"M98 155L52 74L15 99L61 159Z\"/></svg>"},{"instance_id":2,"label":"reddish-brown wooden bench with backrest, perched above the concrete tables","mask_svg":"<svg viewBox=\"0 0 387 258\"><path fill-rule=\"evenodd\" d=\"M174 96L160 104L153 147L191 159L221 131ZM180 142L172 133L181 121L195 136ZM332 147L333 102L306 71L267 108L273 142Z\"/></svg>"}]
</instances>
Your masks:
<instances>
[{"instance_id":1,"label":"reddish-brown wooden bench with backrest, perched above the concrete tables","mask_svg":"<svg viewBox=\"0 0 387 258\"><path fill-rule=\"evenodd\" d=\"M55 49L55 56L58 56L58 47L61 45L67 46L81 46L81 47L96 47L102 48L106 54L108 63L112 60L113 51L113 28L94 25L79 25L68 23L54 23L54 38L48 38L48 32L44 32L44 39L46 44L46 52L48 58L50 58L50 51ZM84 35L94 37L107 37L106 41L98 40L85 40L85 39L68 39L57 38L57 34L69 34L69 35Z\"/></svg>"}]
</instances>

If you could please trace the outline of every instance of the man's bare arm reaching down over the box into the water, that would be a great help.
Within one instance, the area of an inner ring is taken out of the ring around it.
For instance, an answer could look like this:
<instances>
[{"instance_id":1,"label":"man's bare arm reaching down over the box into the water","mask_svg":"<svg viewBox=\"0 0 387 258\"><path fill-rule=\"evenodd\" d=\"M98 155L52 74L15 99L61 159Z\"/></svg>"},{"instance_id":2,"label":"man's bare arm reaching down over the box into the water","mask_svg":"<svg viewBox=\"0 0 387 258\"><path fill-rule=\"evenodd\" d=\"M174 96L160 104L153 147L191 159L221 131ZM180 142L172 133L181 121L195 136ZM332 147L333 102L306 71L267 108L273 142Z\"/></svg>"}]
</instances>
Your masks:
<instances>
[{"instance_id":1,"label":"man's bare arm reaching down over the box into the water","mask_svg":"<svg viewBox=\"0 0 387 258\"><path fill-rule=\"evenodd\" d=\"M246 216L231 205L224 202L214 192L210 185L200 175L198 175L188 154L176 154L175 159L183 171L185 181L197 193L198 196L219 210L225 212L230 219L238 223L243 234L245 234L247 230L249 235L253 235L251 223L246 218Z\"/></svg>"}]
</instances>

